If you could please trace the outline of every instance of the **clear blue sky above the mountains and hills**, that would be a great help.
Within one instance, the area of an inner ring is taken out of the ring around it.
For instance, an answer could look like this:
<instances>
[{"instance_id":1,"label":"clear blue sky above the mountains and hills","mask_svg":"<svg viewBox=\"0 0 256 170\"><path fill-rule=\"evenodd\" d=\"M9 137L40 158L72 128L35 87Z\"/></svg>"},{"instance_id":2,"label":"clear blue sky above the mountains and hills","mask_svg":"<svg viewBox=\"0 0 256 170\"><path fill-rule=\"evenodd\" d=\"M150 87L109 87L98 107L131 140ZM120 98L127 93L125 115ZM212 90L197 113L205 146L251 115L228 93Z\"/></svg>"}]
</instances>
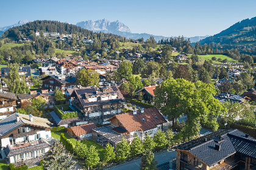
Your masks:
<instances>
[{"instance_id":1,"label":"clear blue sky above the mountains and hills","mask_svg":"<svg viewBox=\"0 0 256 170\"><path fill-rule=\"evenodd\" d=\"M24 19L76 24L105 18L123 22L132 33L163 36L214 35L238 21L256 16L255 0L1 0L0 4L0 27Z\"/></svg>"}]
</instances>

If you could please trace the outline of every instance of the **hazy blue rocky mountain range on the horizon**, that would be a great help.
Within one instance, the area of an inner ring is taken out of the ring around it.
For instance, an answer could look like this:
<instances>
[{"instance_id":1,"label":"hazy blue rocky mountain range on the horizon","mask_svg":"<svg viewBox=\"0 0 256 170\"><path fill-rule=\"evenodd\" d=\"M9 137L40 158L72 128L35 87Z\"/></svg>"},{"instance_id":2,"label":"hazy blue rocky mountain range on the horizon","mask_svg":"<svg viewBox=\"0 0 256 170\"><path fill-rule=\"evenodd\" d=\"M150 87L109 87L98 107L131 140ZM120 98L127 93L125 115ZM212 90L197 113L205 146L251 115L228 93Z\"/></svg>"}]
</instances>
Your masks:
<instances>
[{"instance_id":1,"label":"hazy blue rocky mountain range on the horizon","mask_svg":"<svg viewBox=\"0 0 256 170\"><path fill-rule=\"evenodd\" d=\"M120 35L131 39L139 39L143 37L143 39L146 40L151 36L154 36L155 41L158 42L160 39L171 38L166 36L151 35L148 33L132 33L127 25L124 25L118 20L113 22L110 22L107 19L99 19L98 21L89 20L77 22L76 25L82 27L83 29L92 30L94 32L113 33L115 35ZM190 37L190 42L197 42L201 39L207 38L208 36L209 35ZM185 37L185 39L188 38Z\"/></svg>"}]
</instances>

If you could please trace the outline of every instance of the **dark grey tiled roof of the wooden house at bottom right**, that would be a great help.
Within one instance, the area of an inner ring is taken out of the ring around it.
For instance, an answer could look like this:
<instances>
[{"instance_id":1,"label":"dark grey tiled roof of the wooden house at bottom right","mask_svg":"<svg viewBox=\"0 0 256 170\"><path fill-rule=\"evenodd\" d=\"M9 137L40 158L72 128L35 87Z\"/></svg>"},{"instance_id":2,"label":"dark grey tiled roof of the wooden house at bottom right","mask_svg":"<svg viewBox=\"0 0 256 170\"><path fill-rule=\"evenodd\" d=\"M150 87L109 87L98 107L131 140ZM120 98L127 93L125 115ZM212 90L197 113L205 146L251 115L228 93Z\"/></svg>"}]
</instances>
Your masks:
<instances>
[{"instance_id":1,"label":"dark grey tiled roof of the wooden house at bottom right","mask_svg":"<svg viewBox=\"0 0 256 170\"><path fill-rule=\"evenodd\" d=\"M221 147L219 151L215 149L216 144ZM246 138L246 134L237 129L221 129L179 144L173 149L189 151L208 166L213 166L236 152L256 158L256 140L250 136Z\"/></svg>"}]
</instances>

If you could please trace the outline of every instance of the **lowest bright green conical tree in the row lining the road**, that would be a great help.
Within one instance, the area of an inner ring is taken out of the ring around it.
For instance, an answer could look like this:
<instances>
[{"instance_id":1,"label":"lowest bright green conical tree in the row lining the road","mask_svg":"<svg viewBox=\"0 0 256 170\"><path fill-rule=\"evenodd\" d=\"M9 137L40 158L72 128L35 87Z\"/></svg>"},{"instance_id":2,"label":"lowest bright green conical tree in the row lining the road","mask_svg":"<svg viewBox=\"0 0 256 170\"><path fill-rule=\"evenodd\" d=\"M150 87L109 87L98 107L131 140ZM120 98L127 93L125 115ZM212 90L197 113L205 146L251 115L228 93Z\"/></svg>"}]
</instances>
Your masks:
<instances>
[{"instance_id":1,"label":"lowest bright green conical tree in the row lining the road","mask_svg":"<svg viewBox=\"0 0 256 170\"><path fill-rule=\"evenodd\" d=\"M96 151L95 146L91 145L88 152L87 157L85 158L85 165L90 168L94 168L99 164L99 153Z\"/></svg>"}]
</instances>

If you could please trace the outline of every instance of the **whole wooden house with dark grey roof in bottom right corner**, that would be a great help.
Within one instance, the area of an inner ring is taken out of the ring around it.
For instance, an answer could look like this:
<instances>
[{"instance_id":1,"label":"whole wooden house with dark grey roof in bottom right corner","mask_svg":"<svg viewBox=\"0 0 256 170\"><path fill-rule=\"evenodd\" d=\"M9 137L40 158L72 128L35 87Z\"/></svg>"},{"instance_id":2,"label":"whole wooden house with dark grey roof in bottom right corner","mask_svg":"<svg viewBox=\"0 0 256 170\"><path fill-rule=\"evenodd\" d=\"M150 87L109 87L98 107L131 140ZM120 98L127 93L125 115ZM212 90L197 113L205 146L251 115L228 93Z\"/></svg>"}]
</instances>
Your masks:
<instances>
[{"instance_id":1,"label":"whole wooden house with dark grey roof in bottom right corner","mask_svg":"<svg viewBox=\"0 0 256 170\"><path fill-rule=\"evenodd\" d=\"M220 129L172 148L176 169L255 169L256 140L238 129Z\"/></svg>"}]
</instances>

